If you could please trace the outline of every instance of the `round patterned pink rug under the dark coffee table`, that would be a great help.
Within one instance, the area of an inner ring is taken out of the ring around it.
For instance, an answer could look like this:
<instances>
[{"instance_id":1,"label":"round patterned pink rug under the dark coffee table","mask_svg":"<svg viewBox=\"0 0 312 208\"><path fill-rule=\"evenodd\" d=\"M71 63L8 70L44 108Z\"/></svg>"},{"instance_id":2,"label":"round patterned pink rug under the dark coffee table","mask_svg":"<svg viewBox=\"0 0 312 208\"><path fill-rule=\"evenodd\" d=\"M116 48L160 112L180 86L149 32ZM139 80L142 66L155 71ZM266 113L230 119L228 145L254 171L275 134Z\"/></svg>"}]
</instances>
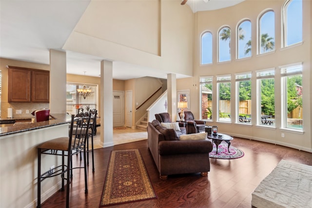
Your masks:
<instances>
[{"instance_id":1,"label":"round patterned pink rug under the dark coffee table","mask_svg":"<svg viewBox=\"0 0 312 208\"><path fill-rule=\"evenodd\" d=\"M228 151L228 144L219 144L218 146L218 154L215 154L216 152L216 147L214 144L213 151L209 152L209 157L210 158L217 158L217 159L236 159L244 156L244 152L233 147L232 145L230 146L230 152Z\"/></svg>"}]
</instances>

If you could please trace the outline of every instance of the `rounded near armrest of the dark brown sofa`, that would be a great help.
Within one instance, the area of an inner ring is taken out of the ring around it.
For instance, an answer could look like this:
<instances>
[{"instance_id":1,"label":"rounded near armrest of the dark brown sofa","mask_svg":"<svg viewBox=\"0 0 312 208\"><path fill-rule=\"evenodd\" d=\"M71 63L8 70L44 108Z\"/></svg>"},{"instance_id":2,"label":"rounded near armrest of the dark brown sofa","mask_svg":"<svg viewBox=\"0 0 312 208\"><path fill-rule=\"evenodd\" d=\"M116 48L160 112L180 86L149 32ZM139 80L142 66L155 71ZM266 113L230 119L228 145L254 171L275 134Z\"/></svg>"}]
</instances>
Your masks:
<instances>
[{"instance_id":1,"label":"rounded near armrest of the dark brown sofa","mask_svg":"<svg viewBox=\"0 0 312 208\"><path fill-rule=\"evenodd\" d=\"M158 143L160 155L209 153L213 145L209 140L161 141Z\"/></svg>"}]
</instances>

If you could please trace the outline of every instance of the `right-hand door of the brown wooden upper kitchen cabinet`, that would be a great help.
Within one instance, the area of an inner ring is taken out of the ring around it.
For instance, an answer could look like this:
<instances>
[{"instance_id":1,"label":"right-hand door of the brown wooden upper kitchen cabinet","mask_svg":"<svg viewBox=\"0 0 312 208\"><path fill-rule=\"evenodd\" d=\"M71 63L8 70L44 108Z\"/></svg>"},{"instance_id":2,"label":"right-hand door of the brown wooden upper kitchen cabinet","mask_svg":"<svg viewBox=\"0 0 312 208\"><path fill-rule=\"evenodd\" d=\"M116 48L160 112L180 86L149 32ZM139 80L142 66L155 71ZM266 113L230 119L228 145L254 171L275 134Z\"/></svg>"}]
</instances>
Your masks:
<instances>
[{"instance_id":1,"label":"right-hand door of the brown wooden upper kitchen cabinet","mask_svg":"<svg viewBox=\"0 0 312 208\"><path fill-rule=\"evenodd\" d=\"M49 102L50 73L32 71L32 102Z\"/></svg>"}]
</instances>

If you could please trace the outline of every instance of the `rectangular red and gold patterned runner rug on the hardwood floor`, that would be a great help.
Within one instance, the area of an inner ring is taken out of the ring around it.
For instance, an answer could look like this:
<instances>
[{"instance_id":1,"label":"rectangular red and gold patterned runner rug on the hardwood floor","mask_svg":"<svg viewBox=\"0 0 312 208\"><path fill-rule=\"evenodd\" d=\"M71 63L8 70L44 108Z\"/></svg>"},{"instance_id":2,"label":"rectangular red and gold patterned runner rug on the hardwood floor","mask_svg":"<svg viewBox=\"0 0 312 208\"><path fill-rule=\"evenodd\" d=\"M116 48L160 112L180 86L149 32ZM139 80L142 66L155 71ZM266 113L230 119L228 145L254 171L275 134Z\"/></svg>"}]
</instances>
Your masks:
<instances>
[{"instance_id":1,"label":"rectangular red and gold patterned runner rug on the hardwood floor","mask_svg":"<svg viewBox=\"0 0 312 208\"><path fill-rule=\"evenodd\" d=\"M155 198L140 152L112 151L99 207Z\"/></svg>"}]
</instances>

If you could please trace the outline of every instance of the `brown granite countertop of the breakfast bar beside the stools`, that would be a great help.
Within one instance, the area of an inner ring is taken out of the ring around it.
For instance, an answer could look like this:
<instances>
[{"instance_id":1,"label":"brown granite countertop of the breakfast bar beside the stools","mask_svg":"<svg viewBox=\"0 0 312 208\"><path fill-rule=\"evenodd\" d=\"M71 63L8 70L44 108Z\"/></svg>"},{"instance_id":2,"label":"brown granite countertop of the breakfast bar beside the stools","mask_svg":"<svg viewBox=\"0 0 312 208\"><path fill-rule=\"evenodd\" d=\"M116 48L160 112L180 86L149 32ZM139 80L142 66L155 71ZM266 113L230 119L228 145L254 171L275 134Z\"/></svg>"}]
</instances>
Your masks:
<instances>
[{"instance_id":1,"label":"brown granite countertop of the breakfast bar beside the stools","mask_svg":"<svg viewBox=\"0 0 312 208\"><path fill-rule=\"evenodd\" d=\"M55 126L71 122L71 116L66 113L58 113L50 115L52 119L41 122L17 122L12 126L0 127L0 136L10 135L13 133L27 132L31 130L41 129L49 126ZM12 120L25 119L25 118L13 118ZM26 119L31 119L27 117ZM3 119L7 120L7 119Z\"/></svg>"}]
</instances>

